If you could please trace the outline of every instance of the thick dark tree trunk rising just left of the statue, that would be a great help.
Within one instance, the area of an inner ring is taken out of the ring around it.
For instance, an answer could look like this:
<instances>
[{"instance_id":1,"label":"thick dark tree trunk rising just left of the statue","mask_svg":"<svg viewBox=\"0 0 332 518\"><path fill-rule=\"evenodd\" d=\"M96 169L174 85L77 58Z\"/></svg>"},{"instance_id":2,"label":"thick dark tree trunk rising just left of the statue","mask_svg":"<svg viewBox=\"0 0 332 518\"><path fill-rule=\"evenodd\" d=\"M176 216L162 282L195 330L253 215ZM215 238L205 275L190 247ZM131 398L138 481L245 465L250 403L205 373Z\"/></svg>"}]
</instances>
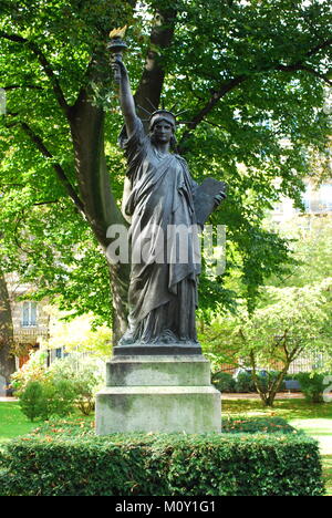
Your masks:
<instances>
[{"instance_id":1,"label":"thick dark tree trunk rising just left of the statue","mask_svg":"<svg viewBox=\"0 0 332 518\"><path fill-rule=\"evenodd\" d=\"M86 219L106 255L113 239L107 237L111 225L127 222L121 214L111 190L110 174L104 151L104 112L94 106L83 90L71 112L71 132L75 152L76 177ZM110 265L113 296L113 343L127 327L127 290L129 265Z\"/></svg>"}]
</instances>

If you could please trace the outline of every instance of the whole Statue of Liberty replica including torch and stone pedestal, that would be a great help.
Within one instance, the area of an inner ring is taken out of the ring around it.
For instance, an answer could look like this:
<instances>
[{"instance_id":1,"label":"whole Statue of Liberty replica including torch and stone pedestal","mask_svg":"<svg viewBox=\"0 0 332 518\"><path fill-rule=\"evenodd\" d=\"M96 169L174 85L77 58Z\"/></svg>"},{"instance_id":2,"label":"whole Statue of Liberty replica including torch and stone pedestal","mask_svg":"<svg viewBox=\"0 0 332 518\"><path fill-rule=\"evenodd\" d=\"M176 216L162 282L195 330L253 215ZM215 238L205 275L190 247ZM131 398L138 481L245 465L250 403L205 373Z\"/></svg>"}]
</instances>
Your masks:
<instances>
[{"instance_id":1,"label":"whole Statue of Liberty replica including torch and stone pedestal","mask_svg":"<svg viewBox=\"0 0 332 518\"><path fill-rule=\"evenodd\" d=\"M128 329L107 364L96 398L96 433L220 432L220 393L197 341L195 311L200 273L198 232L226 197L225 184L199 186L176 153L177 115L153 110L136 115L126 46L115 30L110 49L127 160L123 213L131 222Z\"/></svg>"}]
</instances>

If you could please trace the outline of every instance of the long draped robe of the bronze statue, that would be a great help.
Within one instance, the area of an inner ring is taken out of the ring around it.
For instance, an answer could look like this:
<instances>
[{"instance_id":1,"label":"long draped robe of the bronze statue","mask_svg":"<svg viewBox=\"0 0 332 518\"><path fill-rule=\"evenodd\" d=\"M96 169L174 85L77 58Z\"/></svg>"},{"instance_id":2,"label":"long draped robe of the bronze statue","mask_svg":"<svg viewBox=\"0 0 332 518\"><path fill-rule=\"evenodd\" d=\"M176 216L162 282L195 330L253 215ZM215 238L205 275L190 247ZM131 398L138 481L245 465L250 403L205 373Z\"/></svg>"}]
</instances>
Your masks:
<instances>
[{"instance_id":1,"label":"long draped robe of the bronze statue","mask_svg":"<svg viewBox=\"0 0 332 518\"><path fill-rule=\"evenodd\" d=\"M131 137L123 132L120 143L128 164L123 207L131 218L132 249L128 330L121 343L196 342L197 184L181 157L157 151L139 118Z\"/></svg>"}]
</instances>

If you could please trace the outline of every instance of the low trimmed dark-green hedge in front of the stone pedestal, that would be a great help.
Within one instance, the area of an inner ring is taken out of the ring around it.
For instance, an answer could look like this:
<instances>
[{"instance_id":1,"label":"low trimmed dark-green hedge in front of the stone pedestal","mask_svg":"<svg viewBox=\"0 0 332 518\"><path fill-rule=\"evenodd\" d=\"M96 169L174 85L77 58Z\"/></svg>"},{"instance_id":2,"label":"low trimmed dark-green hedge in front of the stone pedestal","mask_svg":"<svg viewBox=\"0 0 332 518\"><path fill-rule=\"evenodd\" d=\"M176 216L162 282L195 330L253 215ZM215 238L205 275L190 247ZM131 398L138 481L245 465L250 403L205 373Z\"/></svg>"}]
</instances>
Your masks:
<instances>
[{"instance_id":1,"label":"low trimmed dark-green hedge in front of the stone pedestal","mask_svg":"<svg viewBox=\"0 0 332 518\"><path fill-rule=\"evenodd\" d=\"M14 439L2 496L319 496L317 443L302 434L50 436Z\"/></svg>"}]
</instances>

